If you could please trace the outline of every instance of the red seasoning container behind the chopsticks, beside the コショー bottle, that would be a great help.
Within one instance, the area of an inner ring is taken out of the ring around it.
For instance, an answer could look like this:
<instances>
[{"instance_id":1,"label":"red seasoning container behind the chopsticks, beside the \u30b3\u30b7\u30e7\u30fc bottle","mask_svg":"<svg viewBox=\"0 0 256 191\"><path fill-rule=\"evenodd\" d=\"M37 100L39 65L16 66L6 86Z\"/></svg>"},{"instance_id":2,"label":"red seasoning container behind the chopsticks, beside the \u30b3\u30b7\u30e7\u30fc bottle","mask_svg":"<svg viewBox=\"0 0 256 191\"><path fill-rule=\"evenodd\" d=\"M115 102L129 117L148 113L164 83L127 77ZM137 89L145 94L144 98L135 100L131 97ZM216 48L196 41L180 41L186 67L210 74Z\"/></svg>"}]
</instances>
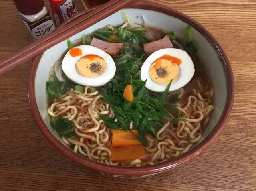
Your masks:
<instances>
[{"instance_id":1,"label":"red seasoning container behind the chopsticks, beside the \u30b3\u30b7\u30e7\u30fc bottle","mask_svg":"<svg viewBox=\"0 0 256 191\"><path fill-rule=\"evenodd\" d=\"M77 14L73 0L49 0L49 2L57 26Z\"/></svg>"}]
</instances>

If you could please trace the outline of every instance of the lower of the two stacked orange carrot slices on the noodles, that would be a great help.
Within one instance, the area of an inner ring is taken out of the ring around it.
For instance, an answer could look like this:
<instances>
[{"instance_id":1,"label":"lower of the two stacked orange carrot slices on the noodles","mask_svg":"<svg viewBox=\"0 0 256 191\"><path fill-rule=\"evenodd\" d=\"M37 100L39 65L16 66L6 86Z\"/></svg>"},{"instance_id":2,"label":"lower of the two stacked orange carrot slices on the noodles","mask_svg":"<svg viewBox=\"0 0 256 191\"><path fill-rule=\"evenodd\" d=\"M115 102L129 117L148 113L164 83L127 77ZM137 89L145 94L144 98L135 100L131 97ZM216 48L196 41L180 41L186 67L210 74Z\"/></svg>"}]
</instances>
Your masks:
<instances>
[{"instance_id":1,"label":"lower of the two stacked orange carrot slices on the noodles","mask_svg":"<svg viewBox=\"0 0 256 191\"><path fill-rule=\"evenodd\" d=\"M146 151L142 145L112 148L112 161L135 160L144 156Z\"/></svg>"}]
</instances>

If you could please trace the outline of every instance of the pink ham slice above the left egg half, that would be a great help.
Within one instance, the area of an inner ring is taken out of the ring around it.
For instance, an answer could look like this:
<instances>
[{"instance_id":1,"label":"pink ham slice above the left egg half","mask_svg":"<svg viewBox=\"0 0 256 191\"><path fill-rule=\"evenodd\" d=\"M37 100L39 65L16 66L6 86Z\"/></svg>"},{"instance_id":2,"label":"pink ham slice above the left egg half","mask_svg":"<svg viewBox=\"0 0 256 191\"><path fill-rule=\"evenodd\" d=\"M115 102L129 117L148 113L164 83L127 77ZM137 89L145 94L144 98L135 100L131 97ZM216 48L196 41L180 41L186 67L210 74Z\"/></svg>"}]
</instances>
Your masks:
<instances>
[{"instance_id":1,"label":"pink ham slice above the left egg half","mask_svg":"<svg viewBox=\"0 0 256 191\"><path fill-rule=\"evenodd\" d=\"M91 46L97 47L108 54L115 55L119 53L120 49L123 47L123 43L110 43L93 38Z\"/></svg>"}]
</instances>

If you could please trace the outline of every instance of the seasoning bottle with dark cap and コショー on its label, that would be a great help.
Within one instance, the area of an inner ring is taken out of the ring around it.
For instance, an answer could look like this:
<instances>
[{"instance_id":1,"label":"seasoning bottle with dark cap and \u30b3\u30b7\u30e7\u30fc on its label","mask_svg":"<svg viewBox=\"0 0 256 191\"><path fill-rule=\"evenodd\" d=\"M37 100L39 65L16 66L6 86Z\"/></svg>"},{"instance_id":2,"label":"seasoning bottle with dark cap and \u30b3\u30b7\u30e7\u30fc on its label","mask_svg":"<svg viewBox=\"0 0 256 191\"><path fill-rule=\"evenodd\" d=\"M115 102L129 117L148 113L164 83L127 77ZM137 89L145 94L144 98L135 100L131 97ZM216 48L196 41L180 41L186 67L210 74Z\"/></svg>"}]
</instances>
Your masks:
<instances>
[{"instance_id":1,"label":"seasoning bottle with dark cap and \u30b3\u30b7\u30e7\u30fc on its label","mask_svg":"<svg viewBox=\"0 0 256 191\"><path fill-rule=\"evenodd\" d=\"M43 0L14 0L14 4L34 41L55 29L54 22Z\"/></svg>"}]
</instances>

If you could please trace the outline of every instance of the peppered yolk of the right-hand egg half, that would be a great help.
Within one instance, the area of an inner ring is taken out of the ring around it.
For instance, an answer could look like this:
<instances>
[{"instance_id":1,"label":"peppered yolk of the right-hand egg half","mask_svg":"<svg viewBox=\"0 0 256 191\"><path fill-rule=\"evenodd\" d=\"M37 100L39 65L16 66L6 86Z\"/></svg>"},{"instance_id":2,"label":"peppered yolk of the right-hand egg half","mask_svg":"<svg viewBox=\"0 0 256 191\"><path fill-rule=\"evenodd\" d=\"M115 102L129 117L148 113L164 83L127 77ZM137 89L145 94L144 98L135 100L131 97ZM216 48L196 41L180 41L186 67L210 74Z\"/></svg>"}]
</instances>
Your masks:
<instances>
[{"instance_id":1,"label":"peppered yolk of the right-hand egg half","mask_svg":"<svg viewBox=\"0 0 256 191\"><path fill-rule=\"evenodd\" d=\"M181 75L179 64L173 59L160 57L149 69L149 77L159 85L168 85L172 80L175 83Z\"/></svg>"}]
</instances>

